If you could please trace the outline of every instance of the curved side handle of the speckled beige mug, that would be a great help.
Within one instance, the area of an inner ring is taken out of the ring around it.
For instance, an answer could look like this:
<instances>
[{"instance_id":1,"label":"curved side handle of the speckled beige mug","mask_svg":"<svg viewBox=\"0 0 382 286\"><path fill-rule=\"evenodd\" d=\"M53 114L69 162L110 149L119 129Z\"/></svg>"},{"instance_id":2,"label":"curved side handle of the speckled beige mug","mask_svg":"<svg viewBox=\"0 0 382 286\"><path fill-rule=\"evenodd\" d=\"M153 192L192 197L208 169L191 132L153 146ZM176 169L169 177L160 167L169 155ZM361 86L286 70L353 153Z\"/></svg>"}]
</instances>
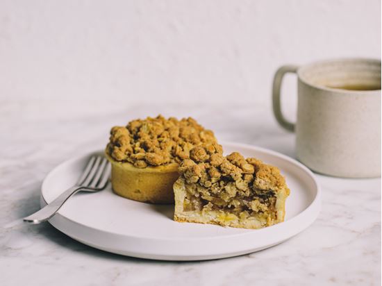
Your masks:
<instances>
[{"instance_id":1,"label":"curved side handle of the speckled beige mug","mask_svg":"<svg viewBox=\"0 0 382 286\"><path fill-rule=\"evenodd\" d=\"M283 81L283 76L288 73L297 74L297 69L299 67L297 65L284 65L277 69L276 74L274 74L273 78L273 89L272 89L272 101L273 101L273 114L276 117L277 122L281 125L281 127L285 128L288 131L294 132L295 125L294 123L288 121L281 113L281 103L280 103L280 90L281 83Z\"/></svg>"}]
</instances>

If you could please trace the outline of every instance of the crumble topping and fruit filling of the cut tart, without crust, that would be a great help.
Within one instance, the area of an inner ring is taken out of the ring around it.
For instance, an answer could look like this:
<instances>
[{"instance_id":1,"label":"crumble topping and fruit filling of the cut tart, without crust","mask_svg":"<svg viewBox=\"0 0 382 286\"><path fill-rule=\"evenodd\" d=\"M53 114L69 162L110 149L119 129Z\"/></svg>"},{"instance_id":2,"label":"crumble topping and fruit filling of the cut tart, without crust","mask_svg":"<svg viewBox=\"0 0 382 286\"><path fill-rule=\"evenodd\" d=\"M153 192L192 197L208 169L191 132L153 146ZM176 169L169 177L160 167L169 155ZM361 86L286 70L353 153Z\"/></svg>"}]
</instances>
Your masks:
<instances>
[{"instance_id":1,"label":"crumble topping and fruit filling of the cut tart, without crust","mask_svg":"<svg viewBox=\"0 0 382 286\"><path fill-rule=\"evenodd\" d=\"M181 162L179 172L187 191L186 211L224 210L240 219L276 219L276 193L285 187L276 167L237 152L224 157L201 145Z\"/></svg>"}]
</instances>

